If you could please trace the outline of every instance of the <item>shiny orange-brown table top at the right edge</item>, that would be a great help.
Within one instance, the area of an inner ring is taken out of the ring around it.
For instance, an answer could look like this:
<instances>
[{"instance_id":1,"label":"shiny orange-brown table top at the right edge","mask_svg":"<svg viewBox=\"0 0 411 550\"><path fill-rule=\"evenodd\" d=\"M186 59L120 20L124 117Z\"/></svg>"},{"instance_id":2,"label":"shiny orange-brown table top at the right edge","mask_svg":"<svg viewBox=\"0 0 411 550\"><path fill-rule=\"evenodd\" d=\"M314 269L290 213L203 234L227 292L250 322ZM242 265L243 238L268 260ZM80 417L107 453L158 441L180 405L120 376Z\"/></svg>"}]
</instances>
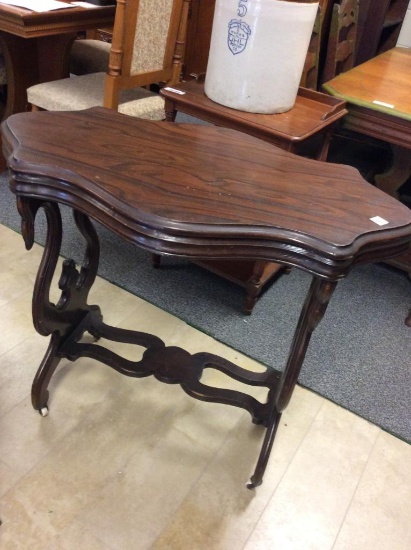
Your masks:
<instances>
[{"instance_id":1,"label":"shiny orange-brown table top at the right edge","mask_svg":"<svg viewBox=\"0 0 411 550\"><path fill-rule=\"evenodd\" d=\"M323 85L348 104L411 121L411 48L396 47Z\"/></svg>"}]
</instances>

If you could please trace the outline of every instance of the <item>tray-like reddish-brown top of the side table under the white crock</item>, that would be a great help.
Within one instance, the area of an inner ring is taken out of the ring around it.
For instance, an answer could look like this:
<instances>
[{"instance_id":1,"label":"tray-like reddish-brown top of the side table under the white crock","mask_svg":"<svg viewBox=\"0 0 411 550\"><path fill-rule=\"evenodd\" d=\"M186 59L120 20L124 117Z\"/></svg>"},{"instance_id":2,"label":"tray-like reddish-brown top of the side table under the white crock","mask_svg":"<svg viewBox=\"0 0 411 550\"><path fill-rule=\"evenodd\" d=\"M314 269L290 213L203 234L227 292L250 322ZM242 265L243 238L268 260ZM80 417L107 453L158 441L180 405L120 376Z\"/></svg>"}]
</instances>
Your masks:
<instances>
[{"instance_id":1,"label":"tray-like reddish-brown top of the side table under the white crock","mask_svg":"<svg viewBox=\"0 0 411 550\"><path fill-rule=\"evenodd\" d=\"M175 89L180 93L173 92ZM206 119L207 114L212 115L213 120L216 117L221 117L221 120L229 118L231 127L244 125L261 133L282 135L294 141L316 134L347 113L345 101L306 88L299 89L290 111L271 115L247 113L220 105L205 95L204 82L197 80L175 85L171 89L163 88L161 94L176 105L184 104L184 112L188 112L187 107L191 108L192 113L200 109L202 119Z\"/></svg>"}]
</instances>

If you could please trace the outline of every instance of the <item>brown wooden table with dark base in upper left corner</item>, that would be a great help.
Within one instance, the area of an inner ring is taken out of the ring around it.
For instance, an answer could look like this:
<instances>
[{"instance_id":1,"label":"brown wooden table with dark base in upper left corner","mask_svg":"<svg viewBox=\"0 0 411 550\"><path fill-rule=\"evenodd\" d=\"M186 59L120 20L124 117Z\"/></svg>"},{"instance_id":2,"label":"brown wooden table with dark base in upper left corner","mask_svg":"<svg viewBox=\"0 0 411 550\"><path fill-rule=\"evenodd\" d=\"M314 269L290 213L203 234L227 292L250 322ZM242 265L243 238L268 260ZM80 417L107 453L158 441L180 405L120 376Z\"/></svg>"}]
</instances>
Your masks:
<instances>
[{"instance_id":1,"label":"brown wooden table with dark base in upper left corner","mask_svg":"<svg viewBox=\"0 0 411 550\"><path fill-rule=\"evenodd\" d=\"M0 4L0 47L7 70L3 119L27 108L26 90L68 76L69 53L77 33L110 24L114 6L74 7L36 13ZM4 169L1 157L0 169Z\"/></svg>"}]
</instances>

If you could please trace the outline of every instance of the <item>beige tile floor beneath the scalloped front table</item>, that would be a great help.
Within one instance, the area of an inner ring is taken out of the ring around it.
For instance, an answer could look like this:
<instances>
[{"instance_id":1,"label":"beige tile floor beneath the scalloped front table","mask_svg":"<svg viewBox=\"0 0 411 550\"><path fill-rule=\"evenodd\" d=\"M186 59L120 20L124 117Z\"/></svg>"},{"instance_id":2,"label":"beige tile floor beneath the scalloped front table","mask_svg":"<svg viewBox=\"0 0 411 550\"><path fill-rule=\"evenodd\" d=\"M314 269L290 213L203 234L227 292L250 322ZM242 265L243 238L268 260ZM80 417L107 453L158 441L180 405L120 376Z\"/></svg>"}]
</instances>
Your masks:
<instances>
[{"instance_id":1,"label":"beige tile floor beneath the scalloped front table","mask_svg":"<svg viewBox=\"0 0 411 550\"><path fill-rule=\"evenodd\" d=\"M63 362L42 418L30 404L47 345L30 311L40 254L0 226L2 550L411 548L411 446L299 387L255 491L262 428L178 386ZM110 324L260 368L104 280L93 299Z\"/></svg>"}]
</instances>

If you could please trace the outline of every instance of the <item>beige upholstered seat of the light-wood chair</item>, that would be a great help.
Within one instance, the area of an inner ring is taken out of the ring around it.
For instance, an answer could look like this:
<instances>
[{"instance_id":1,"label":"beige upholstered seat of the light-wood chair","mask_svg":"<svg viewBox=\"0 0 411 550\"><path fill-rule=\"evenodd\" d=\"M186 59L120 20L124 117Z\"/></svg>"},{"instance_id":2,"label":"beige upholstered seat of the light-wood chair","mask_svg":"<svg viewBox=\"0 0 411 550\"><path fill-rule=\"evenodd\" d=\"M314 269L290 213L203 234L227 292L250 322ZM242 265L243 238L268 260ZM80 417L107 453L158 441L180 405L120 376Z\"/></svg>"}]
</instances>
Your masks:
<instances>
[{"instance_id":1,"label":"beige upholstered seat of the light-wood chair","mask_svg":"<svg viewBox=\"0 0 411 550\"><path fill-rule=\"evenodd\" d=\"M79 111L102 107L105 76L106 73L92 73L36 84L28 88L27 100L46 111ZM122 91L118 110L150 120L165 118L163 98L145 88Z\"/></svg>"}]
</instances>

